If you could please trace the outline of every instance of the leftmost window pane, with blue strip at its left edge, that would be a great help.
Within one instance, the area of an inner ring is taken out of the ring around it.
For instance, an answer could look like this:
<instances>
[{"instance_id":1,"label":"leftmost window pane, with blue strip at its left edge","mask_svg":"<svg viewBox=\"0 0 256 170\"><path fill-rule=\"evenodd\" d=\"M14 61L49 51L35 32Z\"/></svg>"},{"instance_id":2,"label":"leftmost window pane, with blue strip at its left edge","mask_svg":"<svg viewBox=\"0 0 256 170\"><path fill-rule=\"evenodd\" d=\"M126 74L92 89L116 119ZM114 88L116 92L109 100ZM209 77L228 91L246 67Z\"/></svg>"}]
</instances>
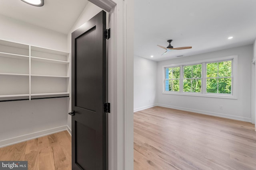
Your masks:
<instances>
[{"instance_id":1,"label":"leftmost window pane, with blue strip at its left edge","mask_svg":"<svg viewBox=\"0 0 256 170\"><path fill-rule=\"evenodd\" d=\"M165 91L180 91L180 67L165 69Z\"/></svg>"}]
</instances>

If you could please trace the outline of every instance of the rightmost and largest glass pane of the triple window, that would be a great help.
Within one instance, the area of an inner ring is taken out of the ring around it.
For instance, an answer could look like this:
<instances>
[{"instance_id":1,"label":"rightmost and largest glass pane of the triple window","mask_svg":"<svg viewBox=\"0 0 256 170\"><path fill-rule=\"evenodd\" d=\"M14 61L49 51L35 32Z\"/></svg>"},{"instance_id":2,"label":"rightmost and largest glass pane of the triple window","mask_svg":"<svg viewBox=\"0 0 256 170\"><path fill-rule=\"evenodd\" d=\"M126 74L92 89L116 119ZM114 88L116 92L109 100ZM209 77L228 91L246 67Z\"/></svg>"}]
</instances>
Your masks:
<instances>
[{"instance_id":1,"label":"rightmost and largest glass pane of the triple window","mask_svg":"<svg viewBox=\"0 0 256 170\"><path fill-rule=\"evenodd\" d=\"M206 92L231 94L232 61L206 64Z\"/></svg>"}]
</instances>

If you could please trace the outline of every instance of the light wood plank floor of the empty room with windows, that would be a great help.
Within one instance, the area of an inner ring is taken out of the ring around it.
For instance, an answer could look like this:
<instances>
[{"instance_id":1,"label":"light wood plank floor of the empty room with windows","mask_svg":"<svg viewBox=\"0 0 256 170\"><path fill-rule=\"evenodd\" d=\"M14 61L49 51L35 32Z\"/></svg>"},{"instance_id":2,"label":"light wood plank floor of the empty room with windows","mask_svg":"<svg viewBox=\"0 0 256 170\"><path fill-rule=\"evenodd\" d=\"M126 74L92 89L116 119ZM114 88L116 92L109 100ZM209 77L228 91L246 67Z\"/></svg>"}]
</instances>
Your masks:
<instances>
[{"instance_id":1,"label":"light wood plank floor of the empty room with windows","mask_svg":"<svg viewBox=\"0 0 256 170\"><path fill-rule=\"evenodd\" d=\"M254 125L158 106L135 112L134 170L256 170Z\"/></svg>"}]
</instances>

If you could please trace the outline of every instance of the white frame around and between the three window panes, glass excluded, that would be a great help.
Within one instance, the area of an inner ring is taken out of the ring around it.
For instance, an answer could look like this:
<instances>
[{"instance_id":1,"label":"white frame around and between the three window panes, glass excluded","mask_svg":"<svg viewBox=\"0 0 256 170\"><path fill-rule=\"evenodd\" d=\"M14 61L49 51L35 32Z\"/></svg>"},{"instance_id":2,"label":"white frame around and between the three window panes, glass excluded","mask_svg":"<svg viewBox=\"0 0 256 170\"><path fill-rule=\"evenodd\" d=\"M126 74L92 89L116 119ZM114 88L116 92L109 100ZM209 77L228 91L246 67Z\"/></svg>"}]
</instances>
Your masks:
<instances>
[{"instance_id":1,"label":"white frame around and between the three window panes, glass excluded","mask_svg":"<svg viewBox=\"0 0 256 170\"><path fill-rule=\"evenodd\" d=\"M231 87L232 92L231 94L206 93L206 64L222 62L222 61L230 61L230 60L232 60L232 87ZM196 64L202 64L201 92L183 92L183 67L188 65L196 65ZM178 67L178 66L180 67L180 91L179 92L165 91L165 81L164 81L165 68ZM162 94L237 99L237 84L238 84L237 76L238 76L238 55L230 55L230 56L218 57L214 59L205 59L200 61L164 65L162 66Z\"/></svg>"}]
</instances>

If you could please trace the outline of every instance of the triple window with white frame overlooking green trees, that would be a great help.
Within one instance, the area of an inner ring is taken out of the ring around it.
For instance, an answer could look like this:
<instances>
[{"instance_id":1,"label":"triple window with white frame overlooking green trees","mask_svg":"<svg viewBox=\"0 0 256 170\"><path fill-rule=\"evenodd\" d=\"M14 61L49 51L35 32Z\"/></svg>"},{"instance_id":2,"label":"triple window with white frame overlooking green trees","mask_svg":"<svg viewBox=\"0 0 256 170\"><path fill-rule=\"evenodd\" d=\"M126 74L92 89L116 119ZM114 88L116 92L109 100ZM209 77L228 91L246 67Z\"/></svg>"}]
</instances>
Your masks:
<instances>
[{"instance_id":1,"label":"triple window with white frame overlooking green trees","mask_svg":"<svg viewBox=\"0 0 256 170\"><path fill-rule=\"evenodd\" d=\"M164 68L164 94L236 98L237 56Z\"/></svg>"}]
</instances>

